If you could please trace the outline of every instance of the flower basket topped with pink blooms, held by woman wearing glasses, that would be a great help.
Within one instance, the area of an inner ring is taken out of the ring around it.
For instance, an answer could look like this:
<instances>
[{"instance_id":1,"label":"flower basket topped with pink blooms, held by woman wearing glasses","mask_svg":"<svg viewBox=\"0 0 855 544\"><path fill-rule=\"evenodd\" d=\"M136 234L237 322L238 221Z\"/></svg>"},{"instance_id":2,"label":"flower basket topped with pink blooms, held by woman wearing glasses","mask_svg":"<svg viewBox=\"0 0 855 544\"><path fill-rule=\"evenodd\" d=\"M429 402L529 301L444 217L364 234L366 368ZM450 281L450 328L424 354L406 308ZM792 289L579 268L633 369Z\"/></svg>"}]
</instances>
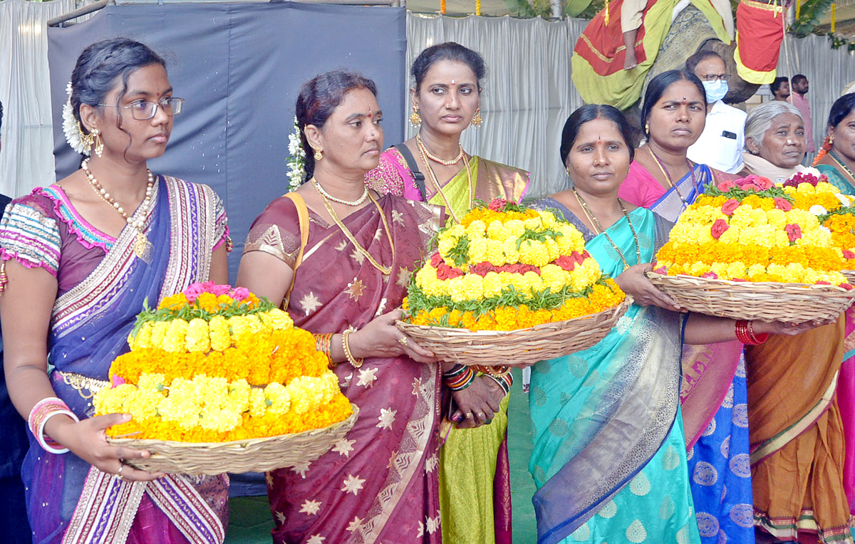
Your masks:
<instances>
[{"instance_id":1,"label":"flower basket topped with pink blooms, held by woman wearing glasses","mask_svg":"<svg viewBox=\"0 0 855 544\"><path fill-rule=\"evenodd\" d=\"M199 471L271 470L316 458L352 426L355 407L314 337L243 288L192 284L139 313L128 344L110 366L112 387L93 404L96 415L133 415L109 428L113 442L163 453L135 461L145 470L185 470L180 457L194 444L196 457L209 458ZM333 433L298 440L310 451L282 440L318 429ZM265 442L267 459L257 453Z\"/></svg>"}]
</instances>

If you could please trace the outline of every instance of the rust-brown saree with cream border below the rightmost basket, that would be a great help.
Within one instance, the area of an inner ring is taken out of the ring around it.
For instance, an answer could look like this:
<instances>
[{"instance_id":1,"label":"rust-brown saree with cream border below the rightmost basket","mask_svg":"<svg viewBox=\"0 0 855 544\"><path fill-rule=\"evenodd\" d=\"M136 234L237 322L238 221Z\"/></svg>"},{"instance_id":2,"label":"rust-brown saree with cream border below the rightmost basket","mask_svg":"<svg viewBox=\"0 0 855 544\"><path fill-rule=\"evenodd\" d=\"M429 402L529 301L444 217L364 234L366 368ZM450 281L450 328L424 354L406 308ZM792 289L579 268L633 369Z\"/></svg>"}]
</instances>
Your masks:
<instances>
[{"instance_id":1,"label":"rust-brown saree with cream border below the rightmost basket","mask_svg":"<svg viewBox=\"0 0 855 544\"><path fill-rule=\"evenodd\" d=\"M834 395L845 328L841 317L746 346L754 520L781 540L810 533L820 542L852 542Z\"/></svg>"}]
</instances>

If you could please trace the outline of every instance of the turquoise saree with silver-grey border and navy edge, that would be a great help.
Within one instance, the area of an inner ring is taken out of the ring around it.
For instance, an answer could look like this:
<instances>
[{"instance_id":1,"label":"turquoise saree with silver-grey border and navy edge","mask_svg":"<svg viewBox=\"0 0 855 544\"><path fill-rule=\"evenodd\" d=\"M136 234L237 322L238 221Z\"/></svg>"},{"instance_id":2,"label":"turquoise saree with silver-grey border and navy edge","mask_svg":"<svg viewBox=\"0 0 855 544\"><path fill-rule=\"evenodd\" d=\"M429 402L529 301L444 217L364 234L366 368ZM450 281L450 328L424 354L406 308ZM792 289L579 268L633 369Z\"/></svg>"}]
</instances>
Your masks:
<instances>
[{"instance_id":1,"label":"turquoise saree with silver-grey border and navy edge","mask_svg":"<svg viewBox=\"0 0 855 544\"><path fill-rule=\"evenodd\" d=\"M637 208L629 218L650 261L654 215ZM634 252L626 218L607 232ZM605 273L622 272L603 234L585 247ZM534 366L539 544L699 542L680 414L682 325L680 313L633 305L593 348Z\"/></svg>"}]
</instances>

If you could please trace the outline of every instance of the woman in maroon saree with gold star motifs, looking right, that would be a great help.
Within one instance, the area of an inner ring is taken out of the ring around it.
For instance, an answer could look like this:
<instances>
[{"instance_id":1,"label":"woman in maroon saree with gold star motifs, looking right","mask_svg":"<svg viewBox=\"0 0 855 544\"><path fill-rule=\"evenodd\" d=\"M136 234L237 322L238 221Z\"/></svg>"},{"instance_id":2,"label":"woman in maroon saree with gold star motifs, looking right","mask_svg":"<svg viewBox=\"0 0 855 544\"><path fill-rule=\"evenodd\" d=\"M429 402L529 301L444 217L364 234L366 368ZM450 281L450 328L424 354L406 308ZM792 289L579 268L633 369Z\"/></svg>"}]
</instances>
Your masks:
<instances>
[{"instance_id":1,"label":"woman in maroon saree with gold star motifs, looking right","mask_svg":"<svg viewBox=\"0 0 855 544\"><path fill-rule=\"evenodd\" d=\"M365 196L383 144L375 94L351 73L304 85L297 116L310 181L297 202L279 198L256 219L241 260L238 284L315 334L360 409L330 452L268 474L275 542L441 541L439 366L394 327L433 218L419 202Z\"/></svg>"}]
</instances>

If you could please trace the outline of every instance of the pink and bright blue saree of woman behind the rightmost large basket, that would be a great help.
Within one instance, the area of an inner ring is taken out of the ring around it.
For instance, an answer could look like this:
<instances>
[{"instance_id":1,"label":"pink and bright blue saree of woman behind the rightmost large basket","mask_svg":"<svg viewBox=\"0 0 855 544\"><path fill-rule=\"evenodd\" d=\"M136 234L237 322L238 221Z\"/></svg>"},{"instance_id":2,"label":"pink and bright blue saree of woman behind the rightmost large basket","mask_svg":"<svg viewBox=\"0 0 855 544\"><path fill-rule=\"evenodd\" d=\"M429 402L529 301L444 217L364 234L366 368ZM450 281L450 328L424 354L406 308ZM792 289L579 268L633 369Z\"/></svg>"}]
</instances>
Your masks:
<instances>
[{"instance_id":1,"label":"pink and bright blue saree of woman behind the rightmost large basket","mask_svg":"<svg viewBox=\"0 0 855 544\"><path fill-rule=\"evenodd\" d=\"M642 201L642 206L676 222L685 206L703 194L705 184L721 180L716 175L733 177L696 164L676 183L676 188L664 190L645 167L634 161L621 190L629 198ZM751 544L754 526L742 344L684 345L681 360L683 430L701 539L704 544L717 544L722 538Z\"/></svg>"}]
</instances>

